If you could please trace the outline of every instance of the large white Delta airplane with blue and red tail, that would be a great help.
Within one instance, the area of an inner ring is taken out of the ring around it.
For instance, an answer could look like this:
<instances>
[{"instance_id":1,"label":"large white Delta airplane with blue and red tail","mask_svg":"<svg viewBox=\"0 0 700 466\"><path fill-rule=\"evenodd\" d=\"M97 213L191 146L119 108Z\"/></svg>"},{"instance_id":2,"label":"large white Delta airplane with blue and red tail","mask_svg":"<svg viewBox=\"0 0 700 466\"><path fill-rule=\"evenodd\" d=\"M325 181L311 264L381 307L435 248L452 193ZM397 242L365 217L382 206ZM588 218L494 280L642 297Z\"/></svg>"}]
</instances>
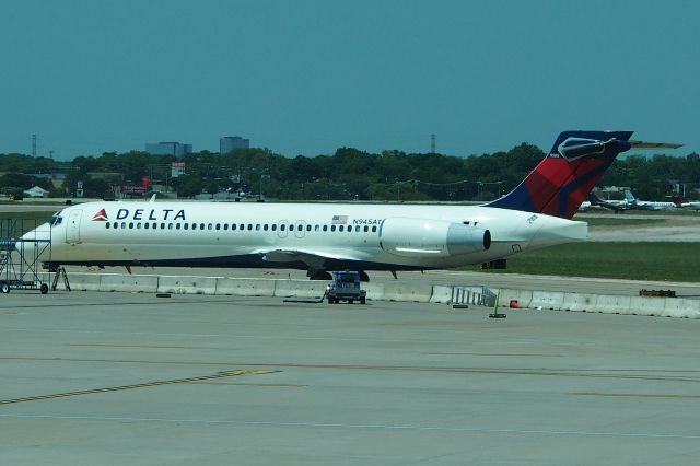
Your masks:
<instances>
[{"instance_id":1,"label":"large white Delta airplane with blue and red tail","mask_svg":"<svg viewBox=\"0 0 700 466\"><path fill-rule=\"evenodd\" d=\"M21 241L50 242L65 265L261 267L307 270L448 269L582 241L571 221L631 131L565 131L506 196L483 206L248 202L86 202ZM655 148L658 145L654 145ZM38 246L37 246L38 247ZM48 254L48 253L47 253Z\"/></svg>"}]
</instances>

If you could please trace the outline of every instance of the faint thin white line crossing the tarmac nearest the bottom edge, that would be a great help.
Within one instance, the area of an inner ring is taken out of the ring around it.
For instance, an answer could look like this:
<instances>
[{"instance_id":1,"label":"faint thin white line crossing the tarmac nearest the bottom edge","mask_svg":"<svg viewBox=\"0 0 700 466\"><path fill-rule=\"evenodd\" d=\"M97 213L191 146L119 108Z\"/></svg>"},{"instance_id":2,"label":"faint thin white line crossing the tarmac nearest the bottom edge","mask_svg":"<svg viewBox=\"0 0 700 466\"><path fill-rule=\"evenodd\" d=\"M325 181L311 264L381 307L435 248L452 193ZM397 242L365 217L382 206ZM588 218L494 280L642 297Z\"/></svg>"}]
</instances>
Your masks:
<instances>
[{"instance_id":1,"label":"faint thin white line crossing the tarmac nearest the bottom edge","mask_svg":"<svg viewBox=\"0 0 700 466\"><path fill-rule=\"evenodd\" d=\"M407 426L407 424L355 424L341 422L277 422L277 421L235 421L226 419L168 419L168 418L138 418L121 416L52 416L52 415L1 415L5 419L56 419L79 421L115 421L115 422L162 422L189 423L209 426L241 426L241 427L271 427L271 428L306 428L306 429L352 429L352 430L387 430L387 431L433 431L463 432L475 434L518 434L518 435L560 435L560 436L618 436L639 439L672 439L700 440L700 434L674 434L654 432L612 432L585 430L545 430L545 429L495 429L443 426Z\"/></svg>"}]
</instances>

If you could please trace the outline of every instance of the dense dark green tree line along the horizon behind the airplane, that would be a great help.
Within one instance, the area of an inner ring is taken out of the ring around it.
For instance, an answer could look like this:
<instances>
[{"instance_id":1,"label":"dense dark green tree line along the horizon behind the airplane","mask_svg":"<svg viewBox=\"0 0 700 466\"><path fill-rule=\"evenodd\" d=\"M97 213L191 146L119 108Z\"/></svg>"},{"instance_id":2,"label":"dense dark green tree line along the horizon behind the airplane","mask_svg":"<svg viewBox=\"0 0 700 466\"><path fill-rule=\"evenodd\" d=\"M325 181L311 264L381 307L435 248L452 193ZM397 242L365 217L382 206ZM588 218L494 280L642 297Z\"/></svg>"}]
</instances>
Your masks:
<instances>
[{"instance_id":1,"label":"dense dark green tree line along the horizon behind the airplane","mask_svg":"<svg viewBox=\"0 0 700 466\"><path fill-rule=\"evenodd\" d=\"M70 162L12 153L0 154L0 190L38 185L63 197L71 196L80 180L85 197L102 197L115 186L141 185L148 177L151 185L166 185L180 197L228 190L282 200L489 200L513 189L544 156L527 143L468 158L353 148L314 158L285 158L268 149L183 158L106 152ZM184 162L186 174L172 177L172 162ZM61 188L47 177L57 173L65 177ZM700 156L631 155L617 160L600 185L629 186L640 198L662 199L673 194L672 183L700 187Z\"/></svg>"}]
</instances>

